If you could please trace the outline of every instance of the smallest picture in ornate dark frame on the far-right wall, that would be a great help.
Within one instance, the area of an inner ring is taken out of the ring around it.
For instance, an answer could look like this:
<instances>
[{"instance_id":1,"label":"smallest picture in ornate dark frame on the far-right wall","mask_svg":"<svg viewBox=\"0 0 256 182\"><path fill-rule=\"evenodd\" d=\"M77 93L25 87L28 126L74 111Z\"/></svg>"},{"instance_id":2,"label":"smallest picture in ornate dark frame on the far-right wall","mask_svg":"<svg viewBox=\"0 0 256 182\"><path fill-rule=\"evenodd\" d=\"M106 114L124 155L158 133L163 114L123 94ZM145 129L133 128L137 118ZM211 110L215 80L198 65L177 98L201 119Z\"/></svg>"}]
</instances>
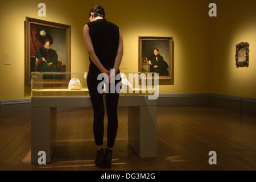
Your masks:
<instances>
[{"instance_id":1,"label":"smallest picture in ornate dark frame on the far-right wall","mask_svg":"<svg viewBox=\"0 0 256 182\"><path fill-rule=\"evenodd\" d=\"M236 65L237 67L249 66L249 43L241 42L236 45Z\"/></svg>"}]
</instances>

